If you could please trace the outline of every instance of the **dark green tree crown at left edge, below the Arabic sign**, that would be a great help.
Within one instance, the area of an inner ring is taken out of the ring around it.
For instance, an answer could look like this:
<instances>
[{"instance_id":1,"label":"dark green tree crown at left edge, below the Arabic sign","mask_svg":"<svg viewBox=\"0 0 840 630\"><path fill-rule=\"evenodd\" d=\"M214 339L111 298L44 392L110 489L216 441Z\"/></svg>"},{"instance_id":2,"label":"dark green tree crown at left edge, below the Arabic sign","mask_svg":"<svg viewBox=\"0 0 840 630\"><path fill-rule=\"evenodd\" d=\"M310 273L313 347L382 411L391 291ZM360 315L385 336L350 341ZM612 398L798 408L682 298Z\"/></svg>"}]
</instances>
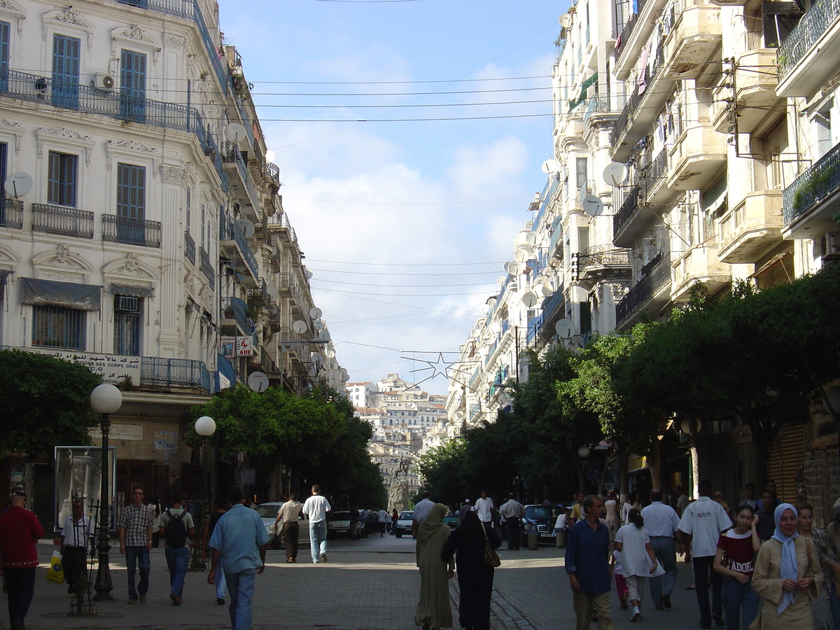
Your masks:
<instances>
[{"instance_id":1,"label":"dark green tree crown at left edge, below the Arabic sign","mask_svg":"<svg viewBox=\"0 0 840 630\"><path fill-rule=\"evenodd\" d=\"M91 391L102 381L83 365L45 354L0 350L0 453L38 454L90 444L99 416Z\"/></svg>"}]
</instances>

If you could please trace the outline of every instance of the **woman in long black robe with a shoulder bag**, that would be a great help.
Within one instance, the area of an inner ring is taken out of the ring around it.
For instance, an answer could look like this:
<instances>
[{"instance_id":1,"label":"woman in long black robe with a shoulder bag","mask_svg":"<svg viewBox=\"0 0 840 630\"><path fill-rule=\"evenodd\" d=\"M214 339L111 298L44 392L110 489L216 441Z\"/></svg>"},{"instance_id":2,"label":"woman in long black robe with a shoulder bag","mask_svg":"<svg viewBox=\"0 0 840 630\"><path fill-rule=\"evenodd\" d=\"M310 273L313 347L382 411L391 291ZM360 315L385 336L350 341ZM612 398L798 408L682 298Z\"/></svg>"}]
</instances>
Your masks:
<instances>
[{"instance_id":1,"label":"woman in long black robe with a shoulder bag","mask_svg":"<svg viewBox=\"0 0 840 630\"><path fill-rule=\"evenodd\" d=\"M498 549L501 537L492 525L486 528L475 512L469 512L444 544L441 559L455 554L458 588L461 598L458 621L467 630L490 630L490 600L493 591L493 567L484 560L485 532L490 546Z\"/></svg>"}]
</instances>

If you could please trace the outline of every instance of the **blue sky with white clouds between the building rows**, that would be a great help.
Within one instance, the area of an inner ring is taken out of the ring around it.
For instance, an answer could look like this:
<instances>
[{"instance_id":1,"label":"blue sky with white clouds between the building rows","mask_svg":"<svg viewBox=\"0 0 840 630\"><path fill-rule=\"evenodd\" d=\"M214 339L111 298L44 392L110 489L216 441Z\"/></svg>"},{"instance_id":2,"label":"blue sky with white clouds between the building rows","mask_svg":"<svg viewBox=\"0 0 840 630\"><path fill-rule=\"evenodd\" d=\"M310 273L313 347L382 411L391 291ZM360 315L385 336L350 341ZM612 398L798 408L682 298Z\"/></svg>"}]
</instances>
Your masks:
<instances>
[{"instance_id":1,"label":"blue sky with white clouds between the building rows","mask_svg":"<svg viewBox=\"0 0 840 630\"><path fill-rule=\"evenodd\" d=\"M339 362L350 381L422 381L422 360L454 360L543 189L567 3L219 4Z\"/></svg>"}]
</instances>

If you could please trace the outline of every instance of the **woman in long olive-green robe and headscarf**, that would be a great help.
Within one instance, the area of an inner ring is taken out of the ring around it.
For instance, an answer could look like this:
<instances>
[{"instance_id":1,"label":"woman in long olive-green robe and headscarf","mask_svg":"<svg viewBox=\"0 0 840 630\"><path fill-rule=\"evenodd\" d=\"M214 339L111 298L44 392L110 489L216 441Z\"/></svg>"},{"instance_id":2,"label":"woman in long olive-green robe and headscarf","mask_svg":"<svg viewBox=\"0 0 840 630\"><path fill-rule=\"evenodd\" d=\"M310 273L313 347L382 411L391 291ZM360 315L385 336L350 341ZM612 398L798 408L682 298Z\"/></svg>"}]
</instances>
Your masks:
<instances>
[{"instance_id":1,"label":"woman in long olive-green robe and headscarf","mask_svg":"<svg viewBox=\"0 0 840 630\"><path fill-rule=\"evenodd\" d=\"M414 623L423 630L452 627L452 606L449 605L449 578L455 564L441 558L444 543L451 530L444 525L449 507L436 503L417 527L417 568L420 569L420 601Z\"/></svg>"}]
</instances>

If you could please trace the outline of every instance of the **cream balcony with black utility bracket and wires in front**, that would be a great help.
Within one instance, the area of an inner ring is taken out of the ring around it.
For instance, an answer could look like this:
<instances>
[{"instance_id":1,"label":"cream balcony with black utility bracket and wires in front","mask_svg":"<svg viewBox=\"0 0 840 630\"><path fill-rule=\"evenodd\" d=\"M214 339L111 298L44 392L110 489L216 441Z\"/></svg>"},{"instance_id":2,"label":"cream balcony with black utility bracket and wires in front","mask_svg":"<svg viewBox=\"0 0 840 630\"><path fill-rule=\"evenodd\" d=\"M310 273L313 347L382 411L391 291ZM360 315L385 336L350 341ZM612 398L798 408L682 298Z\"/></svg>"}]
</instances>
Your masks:
<instances>
[{"instance_id":1,"label":"cream balcony with black utility bracket and wires in front","mask_svg":"<svg viewBox=\"0 0 840 630\"><path fill-rule=\"evenodd\" d=\"M712 107L718 132L734 132L733 107L739 134L761 133L785 114L785 99L776 94L775 56L775 49L759 48L736 58L731 81L734 94L728 82L714 92Z\"/></svg>"}]
</instances>

